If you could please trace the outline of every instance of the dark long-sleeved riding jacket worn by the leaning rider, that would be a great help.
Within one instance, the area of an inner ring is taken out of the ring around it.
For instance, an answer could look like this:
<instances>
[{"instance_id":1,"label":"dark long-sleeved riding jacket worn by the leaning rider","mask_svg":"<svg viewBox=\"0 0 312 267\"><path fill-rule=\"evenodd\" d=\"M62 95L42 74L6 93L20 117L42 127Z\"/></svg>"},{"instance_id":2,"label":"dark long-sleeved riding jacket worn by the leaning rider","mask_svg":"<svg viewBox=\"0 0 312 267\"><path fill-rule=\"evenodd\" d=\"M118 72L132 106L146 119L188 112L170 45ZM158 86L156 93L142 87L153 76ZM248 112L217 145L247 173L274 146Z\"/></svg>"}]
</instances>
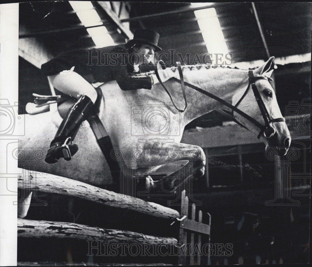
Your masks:
<instances>
[{"instance_id":1,"label":"dark long-sleeved riding jacket worn by the leaning rider","mask_svg":"<svg viewBox=\"0 0 312 267\"><path fill-rule=\"evenodd\" d=\"M131 55L131 54L130 54ZM131 56L130 56L131 57ZM134 77L154 70L153 65L140 65L139 72L129 62L129 50L124 45L107 46L88 50L68 51L41 65L42 74L56 75L75 66L76 73L90 83L116 80L121 90L151 89L152 79L149 76ZM135 57L132 57L132 61Z\"/></svg>"}]
</instances>

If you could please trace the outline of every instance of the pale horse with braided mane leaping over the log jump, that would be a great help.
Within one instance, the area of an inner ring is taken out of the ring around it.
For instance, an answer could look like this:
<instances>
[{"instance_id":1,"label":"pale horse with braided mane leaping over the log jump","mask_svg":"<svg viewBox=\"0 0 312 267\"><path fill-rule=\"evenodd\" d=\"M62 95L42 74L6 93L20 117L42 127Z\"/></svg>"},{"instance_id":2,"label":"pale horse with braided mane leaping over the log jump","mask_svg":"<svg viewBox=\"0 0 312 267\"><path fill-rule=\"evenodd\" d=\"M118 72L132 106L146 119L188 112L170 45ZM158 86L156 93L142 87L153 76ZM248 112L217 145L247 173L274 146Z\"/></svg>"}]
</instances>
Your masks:
<instances>
[{"instance_id":1,"label":"pale horse with braided mane leaping over the log jump","mask_svg":"<svg viewBox=\"0 0 312 267\"><path fill-rule=\"evenodd\" d=\"M271 57L262 66L252 70L225 66L182 66L188 103L184 112L178 111L185 103L180 90L181 84L177 79L169 79L163 83L171 98L161 84L154 84L151 90L130 91L120 90L116 81L101 85L104 107L100 120L114 148L111 152L112 157L120 166L134 169L135 173L131 172L132 176L149 177L147 187L150 188L154 187L155 183L149 175L165 174L162 186L166 190L174 190L177 181L172 179L171 175L186 164L192 166L192 177L203 176L206 160L203 149L180 141L184 127L189 122L224 107L220 101L205 96L205 92L214 94L233 106L236 105L237 109L248 114L249 117L246 117L239 110L233 112L237 122L256 135L259 134L259 125L269 123L270 127L267 129L273 133L266 136L262 130L259 138L265 143L266 149L273 147L281 156L285 155L291 139L285 121L274 120L282 118L282 115L269 82L273 60L274 57ZM177 67L159 70L159 73L168 69L178 76ZM258 99L254 95L254 88L246 90L251 87L250 73L256 77L254 85L259 93ZM192 86L202 91L194 90ZM264 111L259 108L259 96L267 116L273 118L269 122L264 117ZM36 151L41 151L42 155L45 153L60 123L61 117L58 112L25 115L26 132L25 136L20 138L19 151L23 156L19 159L19 167L22 166L23 159L33 158ZM47 164L43 160L44 155L41 155L36 163L37 170L102 188L113 184L108 165L87 122L80 127L75 143L79 145L79 151L71 161L60 159L57 163Z\"/></svg>"}]
</instances>

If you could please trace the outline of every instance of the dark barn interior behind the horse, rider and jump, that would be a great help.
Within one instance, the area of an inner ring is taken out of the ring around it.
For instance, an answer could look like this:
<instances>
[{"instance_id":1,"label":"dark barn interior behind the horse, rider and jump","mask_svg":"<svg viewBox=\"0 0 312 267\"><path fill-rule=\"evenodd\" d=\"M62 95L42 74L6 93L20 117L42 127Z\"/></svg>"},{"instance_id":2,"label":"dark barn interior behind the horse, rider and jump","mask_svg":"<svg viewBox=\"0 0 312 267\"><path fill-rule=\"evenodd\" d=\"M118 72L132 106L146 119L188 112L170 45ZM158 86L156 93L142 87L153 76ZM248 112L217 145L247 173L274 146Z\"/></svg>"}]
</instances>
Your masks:
<instances>
[{"instance_id":1,"label":"dark barn interior behind the horse, rider and jump","mask_svg":"<svg viewBox=\"0 0 312 267\"><path fill-rule=\"evenodd\" d=\"M162 52L175 51L173 65L187 54L189 61L183 63L194 65L202 63L196 60L197 56L202 59L207 53L228 53L232 59L230 67L246 69L275 56L272 78L277 102L293 137L291 147L299 151L298 156L288 160L293 174L289 176L291 187L296 188L297 194L276 197L277 188L282 186L276 177L279 163L266 156L260 140L216 111L189 123L181 142L200 146L207 159L204 176L193 181L192 191L192 200L201 201L203 221L209 220L207 213L211 215L211 232L209 236L202 235L202 244L233 247L232 255L202 256L202 265L308 263L310 2L22 2L19 14L21 107L33 101L33 93L51 95L47 77L40 71L43 63L66 51L123 44L132 39L137 29L158 32ZM25 108L21 110L27 113ZM110 185L103 188L110 189ZM41 205L38 199L53 204ZM163 222L158 220L145 225L146 218L136 213L124 215L113 209L103 210L99 205L82 204L74 198L55 199L39 192L38 199L38 205L31 206L26 219L71 222L73 214L80 214L76 222L90 226L143 231L149 235L163 231L163 236L178 231L162 230L159 224ZM162 205L165 200L148 198ZM81 205L85 205L83 209ZM112 213L118 222L107 216ZM126 227L120 222L124 220ZM96 225L99 221L100 225ZM36 243L20 239L18 261L115 263L114 257L95 257L91 262L90 257L75 252L79 244L72 244L69 253L70 246L60 246L57 240L46 245L42 240ZM26 249L31 246L36 247L36 253ZM124 261L129 263L127 260ZM165 263L175 261L169 259Z\"/></svg>"}]
</instances>

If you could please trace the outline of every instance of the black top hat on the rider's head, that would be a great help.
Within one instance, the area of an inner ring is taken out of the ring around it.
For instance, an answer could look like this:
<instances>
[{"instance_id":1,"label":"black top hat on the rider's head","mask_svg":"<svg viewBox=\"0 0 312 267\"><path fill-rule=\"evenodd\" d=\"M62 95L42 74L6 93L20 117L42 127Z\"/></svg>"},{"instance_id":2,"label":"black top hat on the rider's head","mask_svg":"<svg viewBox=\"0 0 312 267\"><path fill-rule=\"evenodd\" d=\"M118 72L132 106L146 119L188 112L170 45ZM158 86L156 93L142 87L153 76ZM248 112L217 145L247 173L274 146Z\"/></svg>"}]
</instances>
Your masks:
<instances>
[{"instance_id":1,"label":"black top hat on the rider's head","mask_svg":"<svg viewBox=\"0 0 312 267\"><path fill-rule=\"evenodd\" d=\"M157 32L154 32L152 30L136 30L134 32L133 39L129 40L126 43L127 48L130 48L135 45L136 42L149 44L151 46L154 46L155 52L161 51L161 48L157 46L159 39L159 34Z\"/></svg>"}]
</instances>

